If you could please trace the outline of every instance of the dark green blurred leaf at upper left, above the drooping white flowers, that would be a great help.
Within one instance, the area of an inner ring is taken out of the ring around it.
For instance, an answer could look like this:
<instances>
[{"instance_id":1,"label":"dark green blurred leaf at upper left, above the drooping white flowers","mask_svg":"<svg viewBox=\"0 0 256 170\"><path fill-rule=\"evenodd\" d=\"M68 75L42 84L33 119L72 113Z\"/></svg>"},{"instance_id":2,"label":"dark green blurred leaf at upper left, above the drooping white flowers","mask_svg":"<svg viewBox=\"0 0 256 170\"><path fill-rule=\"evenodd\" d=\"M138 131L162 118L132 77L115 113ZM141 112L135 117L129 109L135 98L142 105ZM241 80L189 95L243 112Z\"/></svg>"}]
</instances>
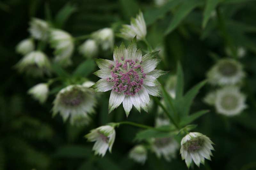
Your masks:
<instances>
[{"instance_id":1,"label":"dark green blurred leaf at upper left, above the drooping white flowers","mask_svg":"<svg viewBox=\"0 0 256 170\"><path fill-rule=\"evenodd\" d=\"M62 9L58 12L55 18L56 26L61 28L68 18L76 11L76 7L67 3Z\"/></svg>"}]
</instances>

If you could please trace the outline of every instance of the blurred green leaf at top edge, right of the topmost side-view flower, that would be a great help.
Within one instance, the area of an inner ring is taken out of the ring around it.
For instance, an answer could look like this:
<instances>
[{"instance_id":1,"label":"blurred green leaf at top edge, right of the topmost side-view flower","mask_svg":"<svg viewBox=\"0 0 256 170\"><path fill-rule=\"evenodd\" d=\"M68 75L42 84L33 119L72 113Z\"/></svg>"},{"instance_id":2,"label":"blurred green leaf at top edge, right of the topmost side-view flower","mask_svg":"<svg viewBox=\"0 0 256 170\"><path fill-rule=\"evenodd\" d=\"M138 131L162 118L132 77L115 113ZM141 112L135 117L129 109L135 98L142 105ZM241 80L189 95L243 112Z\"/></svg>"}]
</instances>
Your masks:
<instances>
[{"instance_id":1,"label":"blurred green leaf at top edge, right of the topmost side-view flower","mask_svg":"<svg viewBox=\"0 0 256 170\"><path fill-rule=\"evenodd\" d=\"M153 24L156 22L157 19L163 17L168 11L176 7L178 4L180 4L183 0L175 0L170 1L161 6L160 8L153 8L149 9L144 12L144 19L147 24L147 26Z\"/></svg>"}]
</instances>

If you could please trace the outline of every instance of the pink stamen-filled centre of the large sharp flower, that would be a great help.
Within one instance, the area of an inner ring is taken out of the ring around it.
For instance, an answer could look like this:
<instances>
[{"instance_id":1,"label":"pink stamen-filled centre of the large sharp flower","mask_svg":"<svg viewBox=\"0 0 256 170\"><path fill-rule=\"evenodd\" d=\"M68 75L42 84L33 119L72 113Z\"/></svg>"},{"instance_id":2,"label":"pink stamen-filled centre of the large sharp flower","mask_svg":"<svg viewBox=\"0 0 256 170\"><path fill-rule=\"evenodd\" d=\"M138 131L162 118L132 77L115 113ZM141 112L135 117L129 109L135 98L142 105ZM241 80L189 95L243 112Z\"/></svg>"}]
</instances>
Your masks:
<instances>
[{"instance_id":1,"label":"pink stamen-filled centre of the large sharp flower","mask_svg":"<svg viewBox=\"0 0 256 170\"><path fill-rule=\"evenodd\" d=\"M115 92L124 92L126 95L135 95L140 89L143 88L143 79L146 78L146 74L143 73L141 63L138 63L138 59L124 60L121 58L122 63L116 61L115 66L110 65L111 78L107 80L109 82L115 82L112 87Z\"/></svg>"}]
</instances>

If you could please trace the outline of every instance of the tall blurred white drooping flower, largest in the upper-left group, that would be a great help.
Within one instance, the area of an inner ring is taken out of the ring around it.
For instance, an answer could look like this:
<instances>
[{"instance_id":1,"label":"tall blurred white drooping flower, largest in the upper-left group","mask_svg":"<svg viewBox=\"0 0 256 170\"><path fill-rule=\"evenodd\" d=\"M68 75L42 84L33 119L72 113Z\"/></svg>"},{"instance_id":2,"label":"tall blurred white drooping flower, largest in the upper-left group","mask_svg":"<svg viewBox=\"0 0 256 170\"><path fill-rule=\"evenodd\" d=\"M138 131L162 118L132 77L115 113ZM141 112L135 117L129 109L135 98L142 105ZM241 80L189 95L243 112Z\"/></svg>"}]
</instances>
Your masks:
<instances>
[{"instance_id":1,"label":"tall blurred white drooping flower, largest in the upper-left group","mask_svg":"<svg viewBox=\"0 0 256 170\"><path fill-rule=\"evenodd\" d=\"M64 67L70 65L74 51L73 37L63 30L52 29L50 32L50 43L52 48L55 48L54 61Z\"/></svg>"}]
</instances>

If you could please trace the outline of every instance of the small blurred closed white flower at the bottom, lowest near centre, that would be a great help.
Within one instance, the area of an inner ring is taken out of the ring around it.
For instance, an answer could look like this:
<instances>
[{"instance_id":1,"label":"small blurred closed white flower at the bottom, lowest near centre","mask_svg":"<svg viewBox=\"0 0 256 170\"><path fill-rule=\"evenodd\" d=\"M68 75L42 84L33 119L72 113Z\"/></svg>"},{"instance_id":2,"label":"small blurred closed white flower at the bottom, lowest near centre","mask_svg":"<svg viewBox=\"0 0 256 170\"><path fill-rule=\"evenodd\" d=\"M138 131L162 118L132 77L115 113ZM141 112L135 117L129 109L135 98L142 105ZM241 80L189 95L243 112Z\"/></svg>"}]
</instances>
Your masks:
<instances>
[{"instance_id":1,"label":"small blurred closed white flower at the bottom, lowest near centre","mask_svg":"<svg viewBox=\"0 0 256 170\"><path fill-rule=\"evenodd\" d=\"M147 150L143 145L134 146L129 152L129 158L134 161L144 164L147 160Z\"/></svg>"}]
</instances>

